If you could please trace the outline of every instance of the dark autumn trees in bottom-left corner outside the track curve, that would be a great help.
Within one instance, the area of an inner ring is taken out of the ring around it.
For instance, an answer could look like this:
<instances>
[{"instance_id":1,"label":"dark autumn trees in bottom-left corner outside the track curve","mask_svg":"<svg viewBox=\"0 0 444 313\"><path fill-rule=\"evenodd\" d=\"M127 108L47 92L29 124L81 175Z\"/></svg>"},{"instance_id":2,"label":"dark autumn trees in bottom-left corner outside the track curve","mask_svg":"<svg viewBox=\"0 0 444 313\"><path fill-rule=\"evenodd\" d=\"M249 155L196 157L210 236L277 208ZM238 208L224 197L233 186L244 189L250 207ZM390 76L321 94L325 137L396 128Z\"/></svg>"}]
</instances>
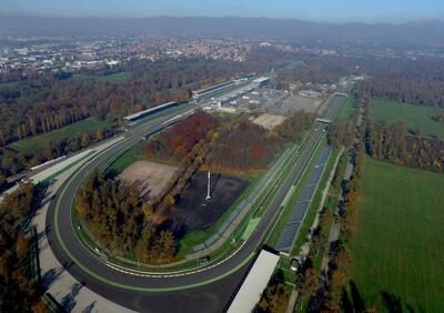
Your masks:
<instances>
[{"instance_id":1,"label":"dark autumn trees in bottom-left corner outside the track curve","mask_svg":"<svg viewBox=\"0 0 444 313\"><path fill-rule=\"evenodd\" d=\"M0 203L0 311L46 312L37 282L30 273L31 240L22 222L31 214L37 201L31 183L4 196Z\"/></svg>"}]
</instances>

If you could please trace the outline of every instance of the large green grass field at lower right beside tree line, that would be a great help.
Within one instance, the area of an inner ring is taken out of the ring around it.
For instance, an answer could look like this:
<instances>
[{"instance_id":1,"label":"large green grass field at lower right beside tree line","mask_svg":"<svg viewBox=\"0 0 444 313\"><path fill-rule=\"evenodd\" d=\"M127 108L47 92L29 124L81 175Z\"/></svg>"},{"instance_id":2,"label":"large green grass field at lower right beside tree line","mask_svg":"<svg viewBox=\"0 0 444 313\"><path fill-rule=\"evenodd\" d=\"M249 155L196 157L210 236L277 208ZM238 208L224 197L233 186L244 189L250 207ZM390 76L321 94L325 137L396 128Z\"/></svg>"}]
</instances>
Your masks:
<instances>
[{"instance_id":1,"label":"large green grass field at lower right beside tree line","mask_svg":"<svg viewBox=\"0 0 444 313\"><path fill-rule=\"evenodd\" d=\"M443 312L443 174L367 161L350 246L350 279L366 305L389 311L387 292L404 312Z\"/></svg>"}]
</instances>

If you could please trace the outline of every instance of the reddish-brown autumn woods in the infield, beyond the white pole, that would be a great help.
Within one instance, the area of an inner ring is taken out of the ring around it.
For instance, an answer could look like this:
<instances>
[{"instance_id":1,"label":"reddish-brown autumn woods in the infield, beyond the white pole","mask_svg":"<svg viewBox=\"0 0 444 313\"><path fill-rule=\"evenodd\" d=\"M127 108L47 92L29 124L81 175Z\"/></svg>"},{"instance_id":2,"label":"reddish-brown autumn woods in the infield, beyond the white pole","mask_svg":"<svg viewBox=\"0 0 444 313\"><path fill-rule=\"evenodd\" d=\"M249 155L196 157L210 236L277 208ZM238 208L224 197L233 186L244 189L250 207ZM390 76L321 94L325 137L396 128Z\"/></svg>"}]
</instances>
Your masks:
<instances>
[{"instance_id":1,"label":"reddish-brown autumn woods in the infield, beyond the white pole","mask_svg":"<svg viewBox=\"0 0 444 313\"><path fill-rule=\"evenodd\" d=\"M270 133L245 119L221 124L216 118L198 112L151 140L145 148L147 156L180 164L191 160L189 154L194 145L211 133L214 144L210 147L205 165L212 171L232 175L261 172L266 170L284 142L302 139L314 117L295 112Z\"/></svg>"}]
</instances>

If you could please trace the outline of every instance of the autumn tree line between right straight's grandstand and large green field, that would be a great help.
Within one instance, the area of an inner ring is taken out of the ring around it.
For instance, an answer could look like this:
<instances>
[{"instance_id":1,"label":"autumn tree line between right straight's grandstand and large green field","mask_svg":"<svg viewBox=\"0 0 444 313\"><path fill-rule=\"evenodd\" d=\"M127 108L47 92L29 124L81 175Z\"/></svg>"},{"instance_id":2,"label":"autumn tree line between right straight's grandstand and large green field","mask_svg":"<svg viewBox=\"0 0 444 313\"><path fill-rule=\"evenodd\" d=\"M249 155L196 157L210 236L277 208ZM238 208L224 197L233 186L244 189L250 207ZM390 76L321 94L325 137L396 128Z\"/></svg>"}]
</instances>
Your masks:
<instances>
[{"instance_id":1,"label":"autumn tree line between right straight's grandstand and large green field","mask_svg":"<svg viewBox=\"0 0 444 313\"><path fill-rule=\"evenodd\" d=\"M323 208L319 228L312 232L310 253L297 272L296 286L301 290L300 301L307 303L307 312L375 312L374 307L365 306L357 287L347 274L351 262L347 244L353 235L353 224L357 218L357 204L362 196L362 174L365 166L364 129L357 132L357 144L350 150L354 164L350 181L343 181L344 169L336 168L332 181L332 189L342 192L342 200L337 195L327 199L337 214ZM350 145L349 145L350 147ZM349 159L349 155L342 158ZM341 162L342 163L342 162ZM345 163L344 163L345 164ZM340 229L339 240L329 244L330 226L335 220ZM325 228L326 226L326 228ZM316 255L330 255L326 271L320 271L313 264Z\"/></svg>"}]
</instances>

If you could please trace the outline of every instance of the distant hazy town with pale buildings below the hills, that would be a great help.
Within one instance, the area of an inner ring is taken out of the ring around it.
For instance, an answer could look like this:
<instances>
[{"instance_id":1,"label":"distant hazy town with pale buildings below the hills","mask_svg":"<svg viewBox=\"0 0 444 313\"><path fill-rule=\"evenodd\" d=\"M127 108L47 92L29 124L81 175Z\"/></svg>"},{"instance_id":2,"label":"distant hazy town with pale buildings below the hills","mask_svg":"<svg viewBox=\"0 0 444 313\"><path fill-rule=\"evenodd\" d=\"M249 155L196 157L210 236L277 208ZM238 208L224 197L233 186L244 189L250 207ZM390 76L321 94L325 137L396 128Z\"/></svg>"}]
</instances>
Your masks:
<instances>
[{"instance_id":1,"label":"distant hazy town with pale buildings below the hills","mask_svg":"<svg viewBox=\"0 0 444 313\"><path fill-rule=\"evenodd\" d=\"M323 47L324 46L324 47ZM20 71L75 72L104 67L119 67L131 60L155 61L161 58L195 58L243 62L254 49L272 48L292 53L317 55L374 55L379 58L440 57L444 52L436 49L413 49L398 51L377 44L353 48L350 44L331 46L316 43L294 43L289 40L241 39L233 37L171 37L171 36L91 36L91 37L26 37L0 36L0 73Z\"/></svg>"}]
</instances>

